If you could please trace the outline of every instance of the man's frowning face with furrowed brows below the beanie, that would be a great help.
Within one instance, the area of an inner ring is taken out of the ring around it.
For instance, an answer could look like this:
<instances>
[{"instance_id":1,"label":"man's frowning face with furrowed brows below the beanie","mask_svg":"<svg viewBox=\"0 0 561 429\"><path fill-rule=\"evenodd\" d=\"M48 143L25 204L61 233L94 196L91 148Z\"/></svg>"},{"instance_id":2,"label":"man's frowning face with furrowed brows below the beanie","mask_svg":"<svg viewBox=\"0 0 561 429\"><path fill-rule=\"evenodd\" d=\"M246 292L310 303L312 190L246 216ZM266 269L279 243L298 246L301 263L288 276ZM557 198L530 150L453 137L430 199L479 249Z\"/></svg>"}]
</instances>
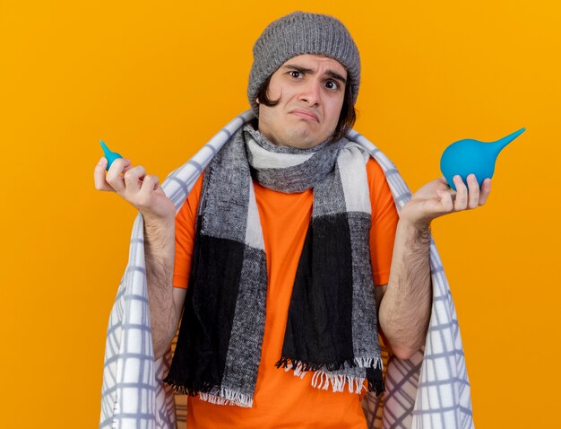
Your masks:
<instances>
[{"instance_id":1,"label":"man's frowning face with furrowed brows below the beanie","mask_svg":"<svg viewBox=\"0 0 561 429\"><path fill-rule=\"evenodd\" d=\"M259 130L279 146L308 149L324 142L337 127L346 82L347 70L332 58L290 58L271 76L267 95L280 101L259 104Z\"/></svg>"}]
</instances>

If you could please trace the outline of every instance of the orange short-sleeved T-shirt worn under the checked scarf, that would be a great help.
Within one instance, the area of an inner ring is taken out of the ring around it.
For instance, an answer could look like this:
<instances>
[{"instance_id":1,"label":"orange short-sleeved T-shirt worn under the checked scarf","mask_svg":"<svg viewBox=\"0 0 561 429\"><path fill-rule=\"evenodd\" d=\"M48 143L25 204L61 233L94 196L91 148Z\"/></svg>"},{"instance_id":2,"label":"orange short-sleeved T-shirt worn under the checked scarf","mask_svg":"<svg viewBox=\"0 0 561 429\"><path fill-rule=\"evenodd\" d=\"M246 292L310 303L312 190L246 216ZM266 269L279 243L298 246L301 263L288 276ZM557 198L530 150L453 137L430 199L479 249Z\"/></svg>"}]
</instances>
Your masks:
<instances>
[{"instance_id":1,"label":"orange short-sleeved T-shirt worn under the checked scarf","mask_svg":"<svg viewBox=\"0 0 561 429\"><path fill-rule=\"evenodd\" d=\"M374 160L367 162L372 203L370 250L375 285L388 283L398 215L384 172ZM186 288L191 271L196 213L202 177L197 180L176 217L174 286ZM219 406L189 398L189 429L337 428L365 429L359 396L348 390L333 393L311 386L304 379L277 369L289 313L292 285L312 215L312 189L284 194L254 181L255 198L267 255L267 299L261 363L252 408Z\"/></svg>"}]
</instances>

